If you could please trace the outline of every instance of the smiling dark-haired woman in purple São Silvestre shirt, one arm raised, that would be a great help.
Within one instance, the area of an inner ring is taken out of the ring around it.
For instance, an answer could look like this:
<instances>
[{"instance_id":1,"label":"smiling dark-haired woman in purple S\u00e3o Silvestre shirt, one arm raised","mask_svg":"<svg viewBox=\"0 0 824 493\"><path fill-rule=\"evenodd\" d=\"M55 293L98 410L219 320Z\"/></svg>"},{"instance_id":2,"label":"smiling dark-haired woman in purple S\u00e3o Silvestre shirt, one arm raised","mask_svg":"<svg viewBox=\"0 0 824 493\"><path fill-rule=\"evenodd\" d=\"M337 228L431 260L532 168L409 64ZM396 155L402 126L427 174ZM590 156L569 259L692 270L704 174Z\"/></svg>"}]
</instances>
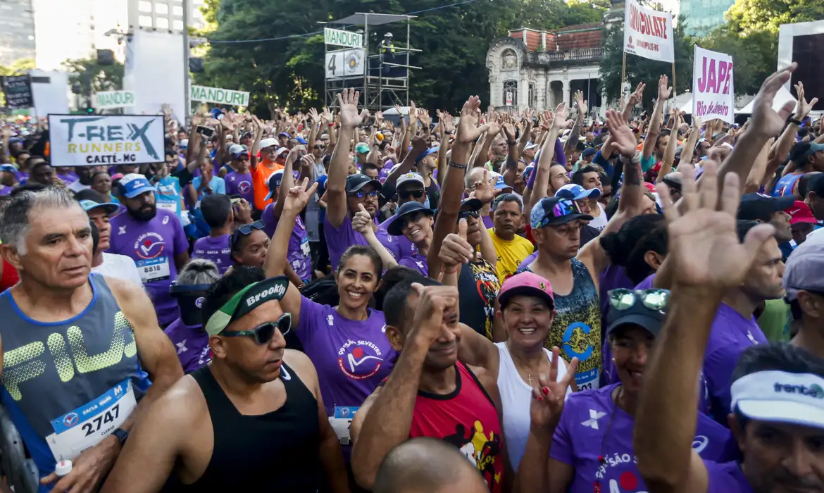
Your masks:
<instances>
[{"instance_id":1,"label":"smiling dark-haired woman in purple S\u00e3o Silvestre shirt, one arm raised","mask_svg":"<svg viewBox=\"0 0 824 493\"><path fill-rule=\"evenodd\" d=\"M267 277L283 275L289 237L297 214L315 193L316 184L288 190L283 212L266 256ZM287 190L284 190L286 192ZM339 304L321 305L305 298L289 284L280 301L292 313L292 326L304 351L317 369L321 394L335 433L349 458L349 422L358 407L389 376L396 351L386 339L383 312L368 307L381 280L381 257L371 247L354 245L340 257L335 281Z\"/></svg>"}]
</instances>

